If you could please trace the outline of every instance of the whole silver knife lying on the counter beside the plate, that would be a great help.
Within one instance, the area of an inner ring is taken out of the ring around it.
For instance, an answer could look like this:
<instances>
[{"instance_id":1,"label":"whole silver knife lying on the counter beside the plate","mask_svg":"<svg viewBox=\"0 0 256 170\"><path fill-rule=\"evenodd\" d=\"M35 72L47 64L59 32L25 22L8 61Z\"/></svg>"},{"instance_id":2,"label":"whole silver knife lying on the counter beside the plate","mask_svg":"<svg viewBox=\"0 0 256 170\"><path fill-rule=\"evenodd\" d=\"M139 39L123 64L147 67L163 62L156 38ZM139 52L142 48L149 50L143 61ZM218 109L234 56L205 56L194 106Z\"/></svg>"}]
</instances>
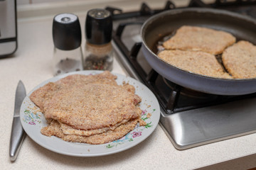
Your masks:
<instances>
[{"instance_id":1,"label":"whole silver knife lying on the counter beside the plate","mask_svg":"<svg viewBox=\"0 0 256 170\"><path fill-rule=\"evenodd\" d=\"M26 133L21 126L20 109L23 99L26 97L26 89L22 81L18 81L14 104L14 120L11 127L11 139L9 154L11 161L15 161Z\"/></svg>"}]
</instances>

